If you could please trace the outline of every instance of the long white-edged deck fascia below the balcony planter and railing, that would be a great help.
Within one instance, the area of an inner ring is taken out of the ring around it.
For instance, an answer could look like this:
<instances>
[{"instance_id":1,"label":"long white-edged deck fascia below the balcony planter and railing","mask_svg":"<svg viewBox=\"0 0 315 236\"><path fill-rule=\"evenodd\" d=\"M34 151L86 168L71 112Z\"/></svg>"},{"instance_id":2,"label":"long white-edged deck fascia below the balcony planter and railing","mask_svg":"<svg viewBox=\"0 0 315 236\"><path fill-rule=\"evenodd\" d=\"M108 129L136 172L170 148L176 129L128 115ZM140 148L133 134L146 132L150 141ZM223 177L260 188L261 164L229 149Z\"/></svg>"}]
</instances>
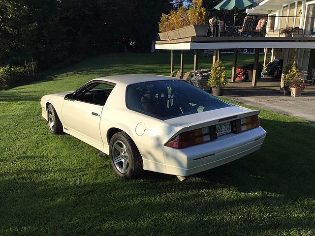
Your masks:
<instances>
[{"instance_id":1,"label":"long white-edged deck fascia below the balcony planter and railing","mask_svg":"<svg viewBox=\"0 0 315 236\"><path fill-rule=\"evenodd\" d=\"M190 40L189 40L190 39ZM189 39L156 41L156 49L235 49L235 48L310 48L315 37L191 37Z\"/></svg>"}]
</instances>

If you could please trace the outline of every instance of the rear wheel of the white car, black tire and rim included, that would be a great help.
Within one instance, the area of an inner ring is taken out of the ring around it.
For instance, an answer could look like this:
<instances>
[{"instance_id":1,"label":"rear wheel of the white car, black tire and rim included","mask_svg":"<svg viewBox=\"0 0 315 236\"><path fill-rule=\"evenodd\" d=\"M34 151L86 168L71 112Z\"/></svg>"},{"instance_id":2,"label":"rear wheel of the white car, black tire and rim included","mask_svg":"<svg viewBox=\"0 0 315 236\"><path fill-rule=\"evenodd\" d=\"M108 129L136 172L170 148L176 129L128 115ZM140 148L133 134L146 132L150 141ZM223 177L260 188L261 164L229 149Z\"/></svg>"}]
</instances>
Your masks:
<instances>
[{"instance_id":1,"label":"rear wheel of the white car, black tire and rim included","mask_svg":"<svg viewBox=\"0 0 315 236\"><path fill-rule=\"evenodd\" d=\"M114 171L122 178L134 178L143 172L140 152L125 132L118 132L111 138L109 158Z\"/></svg>"}]
</instances>

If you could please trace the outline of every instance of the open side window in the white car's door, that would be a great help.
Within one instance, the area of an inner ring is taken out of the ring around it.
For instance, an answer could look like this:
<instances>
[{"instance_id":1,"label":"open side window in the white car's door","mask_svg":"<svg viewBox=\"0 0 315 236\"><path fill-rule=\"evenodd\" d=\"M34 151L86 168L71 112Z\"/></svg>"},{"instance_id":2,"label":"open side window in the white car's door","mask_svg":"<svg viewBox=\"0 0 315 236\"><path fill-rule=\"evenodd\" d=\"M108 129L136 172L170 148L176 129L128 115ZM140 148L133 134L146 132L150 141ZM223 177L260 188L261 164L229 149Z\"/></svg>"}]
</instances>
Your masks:
<instances>
[{"instance_id":1,"label":"open side window in the white car's door","mask_svg":"<svg viewBox=\"0 0 315 236\"><path fill-rule=\"evenodd\" d=\"M104 106L109 94L114 89L114 87L114 85L101 82L91 83L80 89L75 94L74 99Z\"/></svg>"}]
</instances>

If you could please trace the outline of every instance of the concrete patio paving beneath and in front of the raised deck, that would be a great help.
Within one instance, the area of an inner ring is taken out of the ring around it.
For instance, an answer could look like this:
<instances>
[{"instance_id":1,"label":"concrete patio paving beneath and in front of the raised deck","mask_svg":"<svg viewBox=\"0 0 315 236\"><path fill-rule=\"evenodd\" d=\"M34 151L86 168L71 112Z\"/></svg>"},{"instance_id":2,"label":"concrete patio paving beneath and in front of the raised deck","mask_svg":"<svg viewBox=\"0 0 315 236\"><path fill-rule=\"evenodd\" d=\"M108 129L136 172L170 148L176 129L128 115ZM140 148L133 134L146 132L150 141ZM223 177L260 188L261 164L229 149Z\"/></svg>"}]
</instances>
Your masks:
<instances>
[{"instance_id":1,"label":"concrete patio paving beneath and in front of the raised deck","mask_svg":"<svg viewBox=\"0 0 315 236\"><path fill-rule=\"evenodd\" d=\"M252 81L228 83L225 88L224 96L233 100L315 123L314 86L307 86L301 97L283 95L280 80L272 78L261 78L256 88Z\"/></svg>"}]
</instances>

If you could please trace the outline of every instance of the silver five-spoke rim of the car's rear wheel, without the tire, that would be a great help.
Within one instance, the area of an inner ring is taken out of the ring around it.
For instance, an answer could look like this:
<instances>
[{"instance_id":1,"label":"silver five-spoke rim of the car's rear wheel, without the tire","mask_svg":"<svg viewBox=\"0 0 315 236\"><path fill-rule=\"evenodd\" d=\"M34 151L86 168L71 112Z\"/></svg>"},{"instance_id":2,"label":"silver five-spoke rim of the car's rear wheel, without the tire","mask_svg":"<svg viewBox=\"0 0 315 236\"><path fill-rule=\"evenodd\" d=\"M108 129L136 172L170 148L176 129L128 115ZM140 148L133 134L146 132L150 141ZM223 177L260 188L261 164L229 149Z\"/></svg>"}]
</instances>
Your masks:
<instances>
[{"instance_id":1,"label":"silver five-spoke rim of the car's rear wheel, without the tire","mask_svg":"<svg viewBox=\"0 0 315 236\"><path fill-rule=\"evenodd\" d=\"M120 173L125 174L129 168L129 160L128 160L129 156L128 156L126 145L122 141L117 140L113 144L111 151L113 155L113 162L115 164L116 169Z\"/></svg>"}]
</instances>

